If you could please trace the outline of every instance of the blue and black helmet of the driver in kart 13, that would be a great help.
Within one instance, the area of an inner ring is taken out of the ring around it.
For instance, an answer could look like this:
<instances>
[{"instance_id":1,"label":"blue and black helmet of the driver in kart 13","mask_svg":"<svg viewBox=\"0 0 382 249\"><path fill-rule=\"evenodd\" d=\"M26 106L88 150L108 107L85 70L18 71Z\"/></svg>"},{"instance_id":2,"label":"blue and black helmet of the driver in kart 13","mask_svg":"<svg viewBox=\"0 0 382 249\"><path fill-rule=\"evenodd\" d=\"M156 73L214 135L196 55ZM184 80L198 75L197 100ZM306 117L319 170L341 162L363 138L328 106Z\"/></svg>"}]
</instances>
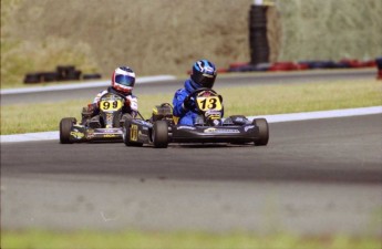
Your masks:
<instances>
[{"instance_id":1,"label":"blue and black helmet of the driver in kart 13","mask_svg":"<svg viewBox=\"0 0 382 249\"><path fill-rule=\"evenodd\" d=\"M190 79L197 84L197 89L211 89L216 79L216 68L210 61L197 61L194 63Z\"/></svg>"}]
</instances>

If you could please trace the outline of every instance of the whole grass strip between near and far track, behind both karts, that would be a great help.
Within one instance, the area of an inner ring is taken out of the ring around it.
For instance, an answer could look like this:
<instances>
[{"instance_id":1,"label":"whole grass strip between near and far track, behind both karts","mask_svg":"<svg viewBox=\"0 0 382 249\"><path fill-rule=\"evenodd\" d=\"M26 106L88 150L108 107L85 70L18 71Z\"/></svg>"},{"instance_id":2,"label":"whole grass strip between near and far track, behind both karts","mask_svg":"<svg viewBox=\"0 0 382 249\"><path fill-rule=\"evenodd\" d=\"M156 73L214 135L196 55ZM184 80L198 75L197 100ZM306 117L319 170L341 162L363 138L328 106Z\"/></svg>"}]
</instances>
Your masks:
<instances>
[{"instance_id":1,"label":"whole grass strip between near and far track, behind both karts","mask_svg":"<svg viewBox=\"0 0 382 249\"><path fill-rule=\"evenodd\" d=\"M225 116L266 115L382 105L375 80L221 89ZM1 135L58 131L62 117L81 117L89 98L51 104L1 106ZM141 95L140 111L148 118L154 105L172 102L173 93Z\"/></svg>"}]
</instances>

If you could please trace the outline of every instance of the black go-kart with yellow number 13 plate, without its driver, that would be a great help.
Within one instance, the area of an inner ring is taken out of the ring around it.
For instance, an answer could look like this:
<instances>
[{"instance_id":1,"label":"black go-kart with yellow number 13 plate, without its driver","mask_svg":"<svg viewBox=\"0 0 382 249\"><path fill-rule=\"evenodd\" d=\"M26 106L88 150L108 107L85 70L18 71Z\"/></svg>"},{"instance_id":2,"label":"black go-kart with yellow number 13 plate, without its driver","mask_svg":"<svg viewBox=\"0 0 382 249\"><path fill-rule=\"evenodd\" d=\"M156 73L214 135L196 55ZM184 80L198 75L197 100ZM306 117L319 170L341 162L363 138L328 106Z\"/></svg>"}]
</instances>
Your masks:
<instances>
[{"instance_id":1,"label":"black go-kart with yellow number 13 plate, without its driver","mask_svg":"<svg viewBox=\"0 0 382 249\"><path fill-rule=\"evenodd\" d=\"M269 128L265 118L249 121L234 115L223 118L221 96L210 89L193 92L198 116L193 126L178 125L171 104L154 108L149 122L128 120L124 124L123 141L126 146L152 144L165 148L169 143L231 143L264 146L268 144Z\"/></svg>"}]
</instances>

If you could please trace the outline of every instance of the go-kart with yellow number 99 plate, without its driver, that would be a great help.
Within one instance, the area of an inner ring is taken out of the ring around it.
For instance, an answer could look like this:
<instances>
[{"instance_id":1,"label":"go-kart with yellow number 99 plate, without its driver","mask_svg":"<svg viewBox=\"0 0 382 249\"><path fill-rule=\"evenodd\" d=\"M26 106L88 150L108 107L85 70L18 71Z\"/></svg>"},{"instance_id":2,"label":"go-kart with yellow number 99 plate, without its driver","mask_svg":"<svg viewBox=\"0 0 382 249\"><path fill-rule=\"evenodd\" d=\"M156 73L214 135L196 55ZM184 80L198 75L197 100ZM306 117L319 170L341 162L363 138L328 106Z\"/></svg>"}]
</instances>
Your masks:
<instances>
[{"instance_id":1,"label":"go-kart with yellow number 99 plate, without its driver","mask_svg":"<svg viewBox=\"0 0 382 249\"><path fill-rule=\"evenodd\" d=\"M60 122L61 144L96 141L122 142L122 127L126 120L133 118L130 114L123 114L122 108L125 97L114 93L107 93L100 100L100 113L89 116L81 123L75 117L64 117Z\"/></svg>"}]
</instances>

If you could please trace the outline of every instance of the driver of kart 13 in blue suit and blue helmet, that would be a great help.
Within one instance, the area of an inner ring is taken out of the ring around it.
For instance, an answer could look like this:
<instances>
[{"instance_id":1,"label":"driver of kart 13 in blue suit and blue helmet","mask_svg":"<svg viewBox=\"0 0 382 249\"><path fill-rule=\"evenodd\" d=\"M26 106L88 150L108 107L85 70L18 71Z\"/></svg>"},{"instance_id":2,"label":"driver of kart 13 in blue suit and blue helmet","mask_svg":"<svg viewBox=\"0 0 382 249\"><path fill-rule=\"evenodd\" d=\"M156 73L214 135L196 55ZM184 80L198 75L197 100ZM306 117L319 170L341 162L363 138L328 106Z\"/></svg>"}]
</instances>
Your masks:
<instances>
[{"instance_id":1,"label":"driver of kart 13 in blue suit and blue helmet","mask_svg":"<svg viewBox=\"0 0 382 249\"><path fill-rule=\"evenodd\" d=\"M173 98L173 114L179 117L179 125L195 124L196 117L198 116L196 103L195 100L187 96L202 87L213 89L216 74L216 68L211 62L199 60L194 63L190 77L185 81L184 89L175 92Z\"/></svg>"}]
</instances>

